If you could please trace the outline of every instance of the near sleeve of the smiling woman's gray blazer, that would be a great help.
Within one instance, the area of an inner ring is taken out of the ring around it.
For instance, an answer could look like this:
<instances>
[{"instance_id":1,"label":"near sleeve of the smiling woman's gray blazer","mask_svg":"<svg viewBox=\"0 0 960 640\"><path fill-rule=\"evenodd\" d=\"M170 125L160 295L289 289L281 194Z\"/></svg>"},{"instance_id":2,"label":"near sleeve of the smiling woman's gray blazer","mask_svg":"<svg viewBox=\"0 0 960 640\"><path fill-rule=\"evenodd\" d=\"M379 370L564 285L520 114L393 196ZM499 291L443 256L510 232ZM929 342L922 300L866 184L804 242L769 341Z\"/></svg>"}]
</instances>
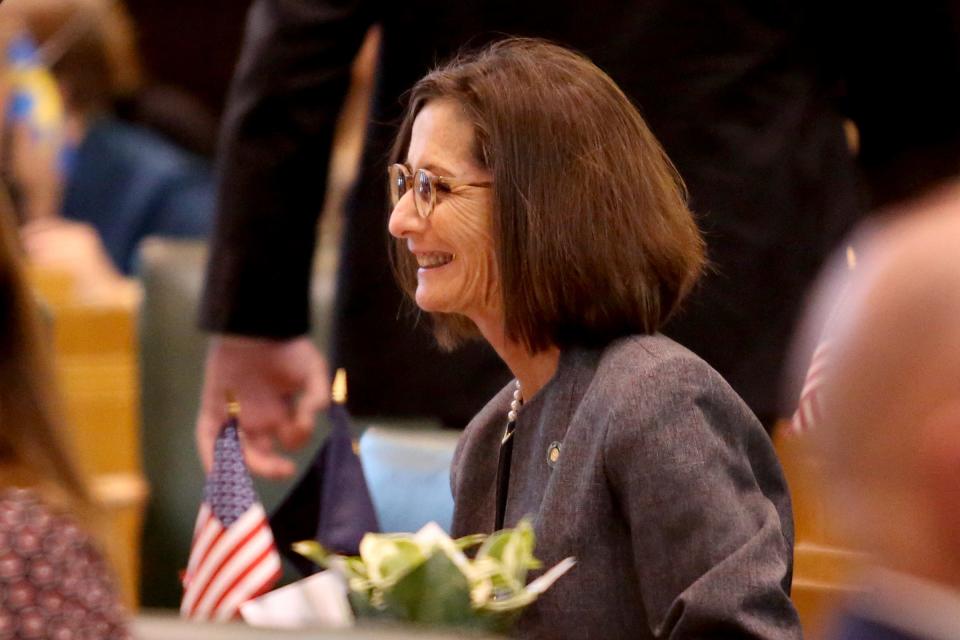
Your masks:
<instances>
[{"instance_id":1,"label":"near sleeve of the smiling woman's gray blazer","mask_svg":"<svg viewBox=\"0 0 960 640\"><path fill-rule=\"evenodd\" d=\"M759 422L700 361L617 401L604 465L658 638L799 638L786 485Z\"/></svg>"}]
</instances>

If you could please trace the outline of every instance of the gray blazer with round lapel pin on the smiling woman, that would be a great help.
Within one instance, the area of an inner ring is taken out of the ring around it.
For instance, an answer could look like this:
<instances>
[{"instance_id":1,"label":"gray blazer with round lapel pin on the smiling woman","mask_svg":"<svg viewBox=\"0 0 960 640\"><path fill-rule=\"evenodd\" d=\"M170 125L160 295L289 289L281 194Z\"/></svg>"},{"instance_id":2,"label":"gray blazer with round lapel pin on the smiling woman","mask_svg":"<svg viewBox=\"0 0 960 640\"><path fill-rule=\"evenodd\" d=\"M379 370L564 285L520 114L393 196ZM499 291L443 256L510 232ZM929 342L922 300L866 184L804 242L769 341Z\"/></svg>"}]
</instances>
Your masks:
<instances>
[{"instance_id":1,"label":"gray blazer with round lapel pin on the smiling woman","mask_svg":"<svg viewBox=\"0 0 960 640\"><path fill-rule=\"evenodd\" d=\"M493 528L512 391L460 440L455 535ZM750 410L693 353L661 335L565 350L521 409L513 446L505 525L533 517L545 567L577 559L518 635L801 637L780 465Z\"/></svg>"}]
</instances>

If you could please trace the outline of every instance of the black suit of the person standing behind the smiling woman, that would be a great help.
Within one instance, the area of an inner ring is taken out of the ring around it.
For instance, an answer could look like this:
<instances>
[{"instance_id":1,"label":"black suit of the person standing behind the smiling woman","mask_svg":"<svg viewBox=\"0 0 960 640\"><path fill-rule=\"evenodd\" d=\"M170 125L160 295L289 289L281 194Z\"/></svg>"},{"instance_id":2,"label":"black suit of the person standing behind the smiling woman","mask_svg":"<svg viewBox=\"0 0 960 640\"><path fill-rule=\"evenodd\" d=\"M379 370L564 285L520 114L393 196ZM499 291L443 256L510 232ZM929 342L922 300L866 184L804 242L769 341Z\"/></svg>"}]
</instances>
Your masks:
<instances>
[{"instance_id":1,"label":"black suit of the person standing behind the smiling woman","mask_svg":"<svg viewBox=\"0 0 960 640\"><path fill-rule=\"evenodd\" d=\"M869 23L844 3L819 3L257 0L221 141L202 325L273 337L307 330L334 124L353 56L379 23L332 355L352 374L354 411L440 412L466 424L506 372L479 346L440 353L426 322L415 327L404 311L385 250L386 150L401 94L432 65L465 44L538 35L608 71L676 163L714 268L668 333L716 367L754 411L774 415L802 293L862 211L841 98L861 126L862 164L884 197L955 172L960 157L958 99L939 90L955 92L958 76L951 3L921 1L905 15L897 5L871 7Z\"/></svg>"}]
</instances>

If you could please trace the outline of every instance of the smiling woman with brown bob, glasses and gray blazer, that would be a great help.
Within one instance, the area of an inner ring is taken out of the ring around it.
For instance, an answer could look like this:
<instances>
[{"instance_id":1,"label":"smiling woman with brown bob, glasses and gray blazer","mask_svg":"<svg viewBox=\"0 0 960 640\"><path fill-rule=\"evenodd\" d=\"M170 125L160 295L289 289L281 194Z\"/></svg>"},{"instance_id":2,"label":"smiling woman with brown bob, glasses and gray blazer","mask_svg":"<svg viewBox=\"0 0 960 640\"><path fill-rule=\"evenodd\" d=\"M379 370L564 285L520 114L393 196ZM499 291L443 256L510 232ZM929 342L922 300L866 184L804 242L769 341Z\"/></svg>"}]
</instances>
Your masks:
<instances>
[{"instance_id":1,"label":"smiling woman with brown bob, glasses and gray blazer","mask_svg":"<svg viewBox=\"0 0 960 640\"><path fill-rule=\"evenodd\" d=\"M480 336L516 376L458 446L454 534L532 516L544 565L577 560L518 634L800 637L770 441L657 333L704 244L620 89L576 53L504 40L414 86L393 162L401 284L442 346Z\"/></svg>"}]
</instances>

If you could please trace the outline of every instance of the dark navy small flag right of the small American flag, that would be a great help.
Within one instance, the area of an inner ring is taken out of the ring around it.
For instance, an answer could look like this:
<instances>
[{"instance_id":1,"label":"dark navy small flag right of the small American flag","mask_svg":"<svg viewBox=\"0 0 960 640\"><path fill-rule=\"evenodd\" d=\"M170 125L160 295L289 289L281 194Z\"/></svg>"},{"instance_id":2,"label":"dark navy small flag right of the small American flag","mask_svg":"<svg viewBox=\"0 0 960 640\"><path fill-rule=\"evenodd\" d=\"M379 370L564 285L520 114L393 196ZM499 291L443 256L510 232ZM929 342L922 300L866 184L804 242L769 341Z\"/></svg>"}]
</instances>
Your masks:
<instances>
[{"instance_id":1,"label":"dark navy small flag right of the small American flag","mask_svg":"<svg viewBox=\"0 0 960 640\"><path fill-rule=\"evenodd\" d=\"M380 530L343 405L330 407L330 424L307 472L270 517L277 548L305 576L320 568L293 551L294 542L316 540L328 551L356 555L364 534Z\"/></svg>"}]
</instances>

